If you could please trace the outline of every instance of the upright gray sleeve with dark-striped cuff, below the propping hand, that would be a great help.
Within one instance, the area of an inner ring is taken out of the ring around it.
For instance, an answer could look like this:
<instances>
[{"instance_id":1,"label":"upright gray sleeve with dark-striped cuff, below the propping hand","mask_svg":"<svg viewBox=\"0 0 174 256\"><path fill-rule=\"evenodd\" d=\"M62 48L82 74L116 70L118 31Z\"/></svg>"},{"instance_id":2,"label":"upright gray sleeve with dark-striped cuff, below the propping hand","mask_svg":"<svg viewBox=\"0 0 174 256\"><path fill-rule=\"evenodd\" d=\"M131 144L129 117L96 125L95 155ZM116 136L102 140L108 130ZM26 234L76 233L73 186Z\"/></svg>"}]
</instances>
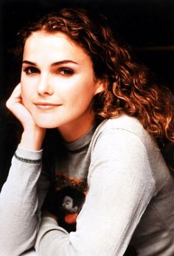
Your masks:
<instances>
[{"instance_id":1,"label":"upright gray sleeve with dark-striped cuff, below the propping hand","mask_svg":"<svg viewBox=\"0 0 174 256\"><path fill-rule=\"evenodd\" d=\"M0 252L18 256L35 244L40 207L49 182L41 174L42 151L18 147L0 195ZM39 180L39 181L38 181ZM37 184L37 182L39 184Z\"/></svg>"}]
</instances>

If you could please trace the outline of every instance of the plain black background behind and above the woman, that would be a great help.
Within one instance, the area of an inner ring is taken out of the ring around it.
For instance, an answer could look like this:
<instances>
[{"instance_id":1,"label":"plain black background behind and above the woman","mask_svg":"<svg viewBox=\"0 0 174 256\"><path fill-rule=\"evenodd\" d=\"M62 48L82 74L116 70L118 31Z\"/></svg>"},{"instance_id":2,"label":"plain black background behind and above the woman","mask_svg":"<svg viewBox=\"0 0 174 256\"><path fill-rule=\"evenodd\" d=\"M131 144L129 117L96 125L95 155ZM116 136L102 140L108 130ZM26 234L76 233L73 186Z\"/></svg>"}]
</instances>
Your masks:
<instances>
[{"instance_id":1,"label":"plain black background behind and above the woman","mask_svg":"<svg viewBox=\"0 0 174 256\"><path fill-rule=\"evenodd\" d=\"M140 62L174 92L174 0L0 0L0 188L18 144L5 101L20 80L15 35L35 16L60 7L89 7L105 14Z\"/></svg>"}]
</instances>

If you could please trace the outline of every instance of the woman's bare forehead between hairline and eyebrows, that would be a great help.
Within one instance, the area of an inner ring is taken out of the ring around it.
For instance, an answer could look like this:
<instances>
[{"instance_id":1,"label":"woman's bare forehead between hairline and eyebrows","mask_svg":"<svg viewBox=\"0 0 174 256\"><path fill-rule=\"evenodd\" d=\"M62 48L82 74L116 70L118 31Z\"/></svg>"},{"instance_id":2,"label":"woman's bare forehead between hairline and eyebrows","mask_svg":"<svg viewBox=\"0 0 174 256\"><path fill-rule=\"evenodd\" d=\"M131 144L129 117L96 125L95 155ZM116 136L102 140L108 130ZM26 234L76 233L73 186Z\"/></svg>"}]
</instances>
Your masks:
<instances>
[{"instance_id":1,"label":"woman's bare forehead between hairline and eyebrows","mask_svg":"<svg viewBox=\"0 0 174 256\"><path fill-rule=\"evenodd\" d=\"M33 32L25 43L23 60L43 66L63 60L92 66L92 60L83 48L62 32Z\"/></svg>"}]
</instances>

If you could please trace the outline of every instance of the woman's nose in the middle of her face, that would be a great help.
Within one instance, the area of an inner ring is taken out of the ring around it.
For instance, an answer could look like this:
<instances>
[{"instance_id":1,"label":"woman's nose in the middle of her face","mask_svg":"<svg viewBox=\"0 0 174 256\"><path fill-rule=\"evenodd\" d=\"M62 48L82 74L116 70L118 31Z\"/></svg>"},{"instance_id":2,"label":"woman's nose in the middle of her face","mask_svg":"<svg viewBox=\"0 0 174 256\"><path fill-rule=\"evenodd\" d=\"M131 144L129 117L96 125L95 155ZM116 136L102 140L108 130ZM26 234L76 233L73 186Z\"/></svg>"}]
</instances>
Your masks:
<instances>
[{"instance_id":1,"label":"woman's nose in the middle of her face","mask_svg":"<svg viewBox=\"0 0 174 256\"><path fill-rule=\"evenodd\" d=\"M38 81L38 94L53 94L53 86L49 79L49 75L41 75L40 80Z\"/></svg>"}]
</instances>

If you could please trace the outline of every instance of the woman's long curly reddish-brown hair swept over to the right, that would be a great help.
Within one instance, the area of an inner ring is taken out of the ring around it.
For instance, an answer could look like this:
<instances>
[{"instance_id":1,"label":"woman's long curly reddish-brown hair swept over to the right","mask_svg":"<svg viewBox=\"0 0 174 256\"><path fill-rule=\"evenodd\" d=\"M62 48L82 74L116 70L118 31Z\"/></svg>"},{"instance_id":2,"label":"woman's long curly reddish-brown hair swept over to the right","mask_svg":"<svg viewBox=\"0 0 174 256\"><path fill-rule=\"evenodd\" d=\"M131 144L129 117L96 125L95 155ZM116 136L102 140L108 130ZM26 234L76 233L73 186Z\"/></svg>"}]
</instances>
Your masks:
<instances>
[{"instance_id":1,"label":"woman's long curly reddish-brown hair swept over to the right","mask_svg":"<svg viewBox=\"0 0 174 256\"><path fill-rule=\"evenodd\" d=\"M95 77L105 81L94 97L97 117L136 117L157 141L174 139L173 97L159 86L149 70L136 63L128 47L121 44L103 15L83 9L63 8L45 15L19 32L18 52L32 32L63 32L81 46L93 62Z\"/></svg>"}]
</instances>

